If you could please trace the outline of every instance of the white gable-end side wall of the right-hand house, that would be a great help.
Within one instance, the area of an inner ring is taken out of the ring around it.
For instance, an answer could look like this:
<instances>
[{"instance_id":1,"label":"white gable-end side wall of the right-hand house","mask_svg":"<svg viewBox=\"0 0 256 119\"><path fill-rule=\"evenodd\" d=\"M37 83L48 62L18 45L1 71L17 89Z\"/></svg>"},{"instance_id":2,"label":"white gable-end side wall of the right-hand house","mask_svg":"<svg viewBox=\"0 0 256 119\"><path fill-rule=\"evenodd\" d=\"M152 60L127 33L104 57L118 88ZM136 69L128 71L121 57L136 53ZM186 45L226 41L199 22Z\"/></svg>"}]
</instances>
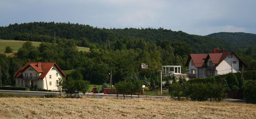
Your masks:
<instances>
[{"instance_id":1,"label":"white gable-end side wall of the right-hand house","mask_svg":"<svg viewBox=\"0 0 256 119\"><path fill-rule=\"evenodd\" d=\"M233 73L239 72L239 60L238 58L232 54L232 58L229 58L228 56L216 67L216 70L218 71L218 74L228 74L232 72L231 65L232 60L236 61L236 64L233 64Z\"/></svg>"}]
</instances>

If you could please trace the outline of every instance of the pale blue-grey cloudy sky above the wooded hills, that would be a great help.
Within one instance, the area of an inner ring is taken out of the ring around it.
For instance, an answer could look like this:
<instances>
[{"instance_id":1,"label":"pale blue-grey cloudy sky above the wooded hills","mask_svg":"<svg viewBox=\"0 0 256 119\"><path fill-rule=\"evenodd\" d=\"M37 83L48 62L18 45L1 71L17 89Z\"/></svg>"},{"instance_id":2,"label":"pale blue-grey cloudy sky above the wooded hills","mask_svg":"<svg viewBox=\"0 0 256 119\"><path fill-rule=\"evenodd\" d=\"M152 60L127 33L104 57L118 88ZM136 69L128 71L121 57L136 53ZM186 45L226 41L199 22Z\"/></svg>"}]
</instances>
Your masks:
<instances>
[{"instance_id":1,"label":"pale blue-grey cloudy sky above the wooded hills","mask_svg":"<svg viewBox=\"0 0 256 119\"><path fill-rule=\"evenodd\" d=\"M256 34L256 0L1 0L0 26L71 22L100 28L165 28L188 34Z\"/></svg>"}]
</instances>

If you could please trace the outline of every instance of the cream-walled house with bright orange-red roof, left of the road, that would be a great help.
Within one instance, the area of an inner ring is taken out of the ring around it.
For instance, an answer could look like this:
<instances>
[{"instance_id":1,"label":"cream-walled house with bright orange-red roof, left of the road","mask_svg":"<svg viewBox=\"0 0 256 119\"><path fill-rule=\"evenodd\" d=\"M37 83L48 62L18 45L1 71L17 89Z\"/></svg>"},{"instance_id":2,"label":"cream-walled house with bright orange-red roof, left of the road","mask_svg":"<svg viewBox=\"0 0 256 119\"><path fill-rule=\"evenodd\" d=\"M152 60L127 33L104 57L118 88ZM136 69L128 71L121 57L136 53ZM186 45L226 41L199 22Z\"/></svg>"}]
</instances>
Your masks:
<instances>
[{"instance_id":1,"label":"cream-walled house with bright orange-red roof, left of the road","mask_svg":"<svg viewBox=\"0 0 256 119\"><path fill-rule=\"evenodd\" d=\"M59 78L66 75L56 63L27 62L15 72L13 77L16 86L56 91Z\"/></svg>"}]
</instances>

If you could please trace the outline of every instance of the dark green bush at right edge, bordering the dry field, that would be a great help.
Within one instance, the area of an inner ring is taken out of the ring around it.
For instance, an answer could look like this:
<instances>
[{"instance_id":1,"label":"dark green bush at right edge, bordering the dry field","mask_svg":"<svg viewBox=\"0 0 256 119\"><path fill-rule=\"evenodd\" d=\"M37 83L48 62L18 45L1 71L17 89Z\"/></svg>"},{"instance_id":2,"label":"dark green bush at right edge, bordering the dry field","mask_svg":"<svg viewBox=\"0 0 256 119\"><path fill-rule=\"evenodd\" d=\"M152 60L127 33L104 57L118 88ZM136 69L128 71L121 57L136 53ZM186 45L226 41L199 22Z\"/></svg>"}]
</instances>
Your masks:
<instances>
[{"instance_id":1,"label":"dark green bush at right edge, bordering the dry field","mask_svg":"<svg viewBox=\"0 0 256 119\"><path fill-rule=\"evenodd\" d=\"M256 80L248 80L244 84L244 96L247 103L256 104Z\"/></svg>"}]
</instances>

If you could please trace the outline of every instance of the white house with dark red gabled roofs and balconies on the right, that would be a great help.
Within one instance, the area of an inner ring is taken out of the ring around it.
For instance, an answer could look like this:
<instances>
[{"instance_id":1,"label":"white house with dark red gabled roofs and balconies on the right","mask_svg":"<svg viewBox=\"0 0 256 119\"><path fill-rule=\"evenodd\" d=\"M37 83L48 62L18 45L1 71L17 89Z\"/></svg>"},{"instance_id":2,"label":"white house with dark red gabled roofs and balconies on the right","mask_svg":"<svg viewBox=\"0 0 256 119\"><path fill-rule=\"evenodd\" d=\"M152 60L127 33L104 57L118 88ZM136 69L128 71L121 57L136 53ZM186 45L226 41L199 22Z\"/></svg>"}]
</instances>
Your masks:
<instances>
[{"instance_id":1,"label":"white house with dark red gabled roofs and balconies on the right","mask_svg":"<svg viewBox=\"0 0 256 119\"><path fill-rule=\"evenodd\" d=\"M236 73L248 67L234 52L218 48L208 54L190 54L185 66L189 67L190 78Z\"/></svg>"}]
</instances>

